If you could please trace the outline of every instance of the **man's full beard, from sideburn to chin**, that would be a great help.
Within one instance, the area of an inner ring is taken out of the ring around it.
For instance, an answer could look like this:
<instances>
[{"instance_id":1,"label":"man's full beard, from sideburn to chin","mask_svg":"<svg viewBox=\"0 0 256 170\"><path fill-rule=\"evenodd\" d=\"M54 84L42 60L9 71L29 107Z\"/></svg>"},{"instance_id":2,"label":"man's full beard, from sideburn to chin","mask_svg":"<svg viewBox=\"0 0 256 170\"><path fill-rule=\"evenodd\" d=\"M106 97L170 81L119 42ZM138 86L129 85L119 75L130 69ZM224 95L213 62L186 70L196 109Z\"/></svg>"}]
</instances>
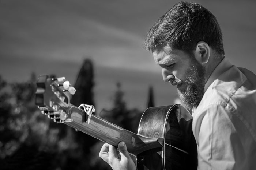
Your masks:
<instances>
[{"instance_id":1,"label":"man's full beard, from sideburn to chin","mask_svg":"<svg viewBox=\"0 0 256 170\"><path fill-rule=\"evenodd\" d=\"M192 63L186 71L185 90L178 90L178 96L189 111L197 107L204 95L204 86L206 83L205 68L192 59ZM181 80L180 80L181 81ZM179 82L179 80L177 80Z\"/></svg>"}]
</instances>

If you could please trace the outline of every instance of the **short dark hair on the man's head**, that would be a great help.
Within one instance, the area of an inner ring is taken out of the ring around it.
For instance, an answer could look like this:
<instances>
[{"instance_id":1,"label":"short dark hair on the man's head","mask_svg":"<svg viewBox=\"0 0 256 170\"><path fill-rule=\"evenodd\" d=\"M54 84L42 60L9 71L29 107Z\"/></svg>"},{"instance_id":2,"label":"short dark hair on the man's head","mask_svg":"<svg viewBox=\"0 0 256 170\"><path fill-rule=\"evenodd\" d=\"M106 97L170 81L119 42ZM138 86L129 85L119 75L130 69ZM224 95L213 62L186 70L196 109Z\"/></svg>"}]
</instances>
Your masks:
<instances>
[{"instance_id":1,"label":"short dark hair on the man's head","mask_svg":"<svg viewBox=\"0 0 256 170\"><path fill-rule=\"evenodd\" d=\"M200 4L179 2L165 13L147 33L144 48L171 48L191 53L199 41L224 55L221 28L216 17Z\"/></svg>"}]
</instances>

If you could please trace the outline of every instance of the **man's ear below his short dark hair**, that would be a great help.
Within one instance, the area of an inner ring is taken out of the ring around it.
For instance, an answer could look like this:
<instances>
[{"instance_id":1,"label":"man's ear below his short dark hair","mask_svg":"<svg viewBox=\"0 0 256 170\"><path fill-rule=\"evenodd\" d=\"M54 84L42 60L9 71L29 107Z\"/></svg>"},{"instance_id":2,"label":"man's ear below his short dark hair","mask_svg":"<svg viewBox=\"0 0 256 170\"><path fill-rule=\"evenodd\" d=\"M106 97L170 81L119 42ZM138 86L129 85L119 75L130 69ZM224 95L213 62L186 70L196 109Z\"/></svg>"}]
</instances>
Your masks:
<instances>
[{"instance_id":1,"label":"man's ear below his short dark hair","mask_svg":"<svg viewBox=\"0 0 256 170\"><path fill-rule=\"evenodd\" d=\"M207 63L210 58L210 54L210 47L206 42L200 41L196 44L196 50L194 51L194 55L199 63Z\"/></svg>"}]
</instances>

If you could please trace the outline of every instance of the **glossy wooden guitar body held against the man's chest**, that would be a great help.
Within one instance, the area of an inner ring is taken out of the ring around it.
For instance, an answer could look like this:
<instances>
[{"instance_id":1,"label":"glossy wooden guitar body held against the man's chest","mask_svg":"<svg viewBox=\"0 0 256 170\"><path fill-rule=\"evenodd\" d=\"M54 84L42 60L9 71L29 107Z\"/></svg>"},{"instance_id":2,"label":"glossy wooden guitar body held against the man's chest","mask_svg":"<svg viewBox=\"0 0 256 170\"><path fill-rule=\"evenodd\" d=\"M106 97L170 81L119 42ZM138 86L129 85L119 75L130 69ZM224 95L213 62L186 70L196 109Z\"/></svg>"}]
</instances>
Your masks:
<instances>
[{"instance_id":1,"label":"glossy wooden guitar body held against the man's chest","mask_svg":"<svg viewBox=\"0 0 256 170\"><path fill-rule=\"evenodd\" d=\"M138 135L164 139L163 147L136 155L138 170L197 169L192 116L183 106L148 108L140 120Z\"/></svg>"}]
</instances>

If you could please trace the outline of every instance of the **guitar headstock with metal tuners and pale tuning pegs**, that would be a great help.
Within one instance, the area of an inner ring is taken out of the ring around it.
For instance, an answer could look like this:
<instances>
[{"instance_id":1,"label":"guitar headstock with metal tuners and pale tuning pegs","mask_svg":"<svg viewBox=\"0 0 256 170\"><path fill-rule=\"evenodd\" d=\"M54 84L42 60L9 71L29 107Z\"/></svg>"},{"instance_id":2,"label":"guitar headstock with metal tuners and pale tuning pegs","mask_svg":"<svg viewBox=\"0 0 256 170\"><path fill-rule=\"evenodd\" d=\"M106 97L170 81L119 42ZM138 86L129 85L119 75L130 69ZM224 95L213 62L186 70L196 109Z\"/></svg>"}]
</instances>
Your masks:
<instances>
[{"instance_id":1,"label":"guitar headstock with metal tuners and pale tuning pegs","mask_svg":"<svg viewBox=\"0 0 256 170\"><path fill-rule=\"evenodd\" d=\"M42 114L48 115L54 122L71 122L71 104L66 92L73 95L76 90L64 77L54 79L48 75L41 75L37 81L35 104L42 110Z\"/></svg>"}]
</instances>

